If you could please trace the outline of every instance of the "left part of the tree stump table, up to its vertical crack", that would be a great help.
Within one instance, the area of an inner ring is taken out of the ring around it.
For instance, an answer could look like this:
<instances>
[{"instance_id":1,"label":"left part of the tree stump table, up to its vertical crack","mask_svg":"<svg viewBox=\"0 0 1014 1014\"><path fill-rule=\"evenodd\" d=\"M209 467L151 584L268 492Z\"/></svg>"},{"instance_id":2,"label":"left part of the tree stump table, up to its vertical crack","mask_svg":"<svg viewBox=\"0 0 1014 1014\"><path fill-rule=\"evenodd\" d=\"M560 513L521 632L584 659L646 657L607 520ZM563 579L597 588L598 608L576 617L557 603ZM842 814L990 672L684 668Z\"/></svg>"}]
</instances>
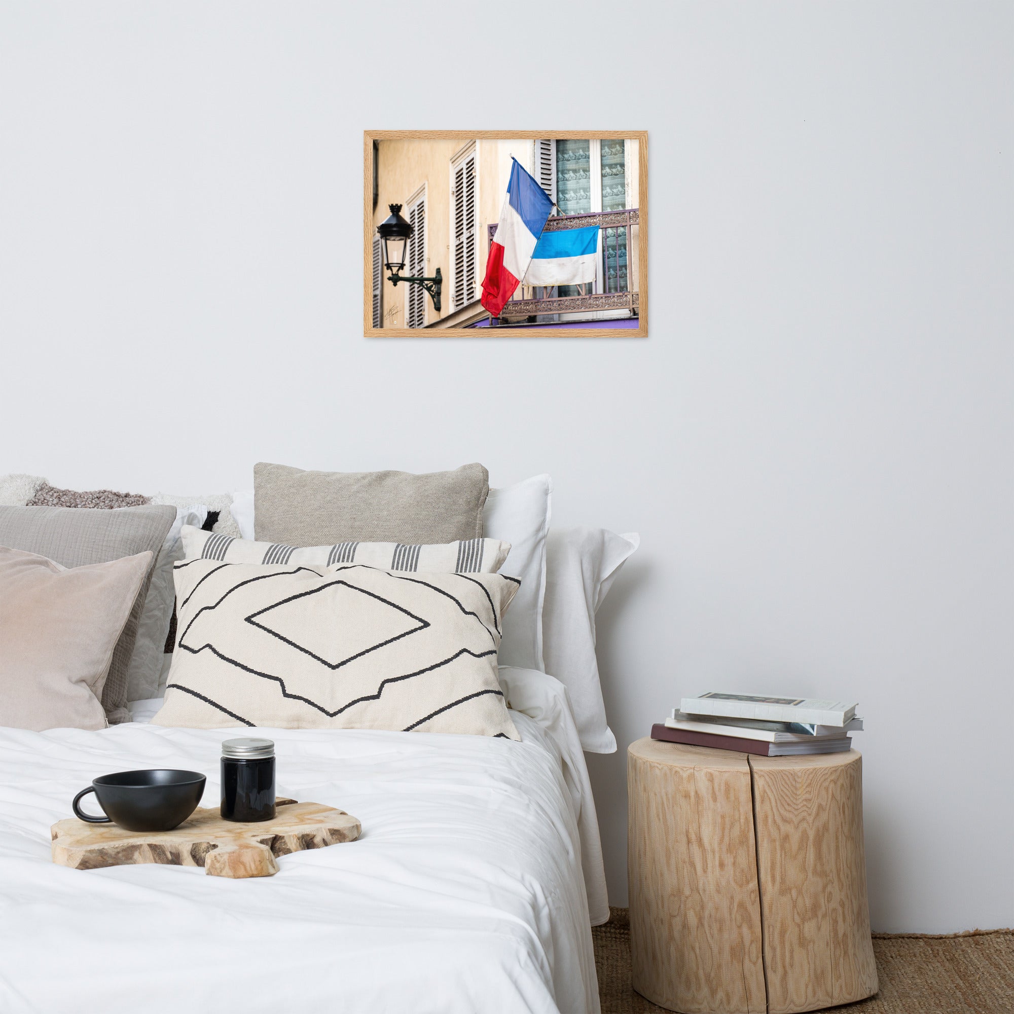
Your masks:
<instances>
[{"instance_id":1,"label":"left part of the tree stump table, up to its vertical crack","mask_svg":"<svg viewBox=\"0 0 1014 1014\"><path fill-rule=\"evenodd\" d=\"M639 739L627 781L634 989L687 1014L765 1014L745 755Z\"/></svg>"}]
</instances>

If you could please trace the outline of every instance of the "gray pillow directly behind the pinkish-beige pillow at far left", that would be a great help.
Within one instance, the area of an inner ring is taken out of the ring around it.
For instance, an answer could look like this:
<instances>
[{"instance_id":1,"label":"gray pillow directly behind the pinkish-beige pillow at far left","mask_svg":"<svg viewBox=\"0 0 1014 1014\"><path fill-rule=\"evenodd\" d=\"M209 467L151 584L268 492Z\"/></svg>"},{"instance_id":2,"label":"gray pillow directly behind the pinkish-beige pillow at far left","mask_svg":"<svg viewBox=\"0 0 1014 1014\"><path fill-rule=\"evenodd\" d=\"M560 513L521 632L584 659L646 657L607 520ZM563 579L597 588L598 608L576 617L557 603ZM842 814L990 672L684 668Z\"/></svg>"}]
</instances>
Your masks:
<instances>
[{"instance_id":1,"label":"gray pillow directly behind the pinkish-beige pillow at far left","mask_svg":"<svg viewBox=\"0 0 1014 1014\"><path fill-rule=\"evenodd\" d=\"M102 687L102 708L111 725L130 721L127 669L137 639L144 598L151 583L151 571L175 518L174 507L154 505L119 510L0 506L0 546L37 553L62 567L104 564L145 551L151 553L151 564L127 625L117 641L110 673Z\"/></svg>"}]
</instances>

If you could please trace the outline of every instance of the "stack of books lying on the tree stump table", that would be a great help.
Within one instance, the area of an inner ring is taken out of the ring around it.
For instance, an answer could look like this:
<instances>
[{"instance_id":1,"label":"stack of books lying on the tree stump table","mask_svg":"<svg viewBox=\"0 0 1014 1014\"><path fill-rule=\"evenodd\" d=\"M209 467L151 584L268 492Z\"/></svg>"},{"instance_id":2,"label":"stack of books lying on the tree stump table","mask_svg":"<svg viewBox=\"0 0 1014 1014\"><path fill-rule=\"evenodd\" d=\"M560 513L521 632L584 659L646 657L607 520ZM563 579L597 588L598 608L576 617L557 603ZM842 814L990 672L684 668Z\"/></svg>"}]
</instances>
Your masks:
<instances>
[{"instance_id":1,"label":"stack of books lying on the tree stump table","mask_svg":"<svg viewBox=\"0 0 1014 1014\"><path fill-rule=\"evenodd\" d=\"M683 698L664 725L651 727L652 739L715 746L760 756L843 753L863 720L856 705L805 698L751 694L702 694Z\"/></svg>"}]
</instances>

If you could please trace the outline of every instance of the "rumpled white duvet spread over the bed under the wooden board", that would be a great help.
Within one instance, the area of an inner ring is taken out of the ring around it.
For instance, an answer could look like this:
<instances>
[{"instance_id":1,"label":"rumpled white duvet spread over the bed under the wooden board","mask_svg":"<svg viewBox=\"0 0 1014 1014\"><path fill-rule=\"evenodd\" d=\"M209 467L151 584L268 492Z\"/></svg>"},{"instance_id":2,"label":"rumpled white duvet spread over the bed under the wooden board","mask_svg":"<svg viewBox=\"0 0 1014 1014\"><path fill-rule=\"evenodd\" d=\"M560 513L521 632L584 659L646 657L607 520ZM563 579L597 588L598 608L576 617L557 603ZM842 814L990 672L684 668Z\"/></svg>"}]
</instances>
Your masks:
<instances>
[{"instance_id":1,"label":"rumpled white duvet spread over the bed under the wooden board","mask_svg":"<svg viewBox=\"0 0 1014 1014\"><path fill-rule=\"evenodd\" d=\"M576 731L562 684L501 678L528 712L520 743L264 730L279 794L347 810L363 834L251 880L50 860L50 825L97 775L201 771L216 805L235 729L0 729L0 1011L594 1014L589 925L607 909Z\"/></svg>"}]
</instances>

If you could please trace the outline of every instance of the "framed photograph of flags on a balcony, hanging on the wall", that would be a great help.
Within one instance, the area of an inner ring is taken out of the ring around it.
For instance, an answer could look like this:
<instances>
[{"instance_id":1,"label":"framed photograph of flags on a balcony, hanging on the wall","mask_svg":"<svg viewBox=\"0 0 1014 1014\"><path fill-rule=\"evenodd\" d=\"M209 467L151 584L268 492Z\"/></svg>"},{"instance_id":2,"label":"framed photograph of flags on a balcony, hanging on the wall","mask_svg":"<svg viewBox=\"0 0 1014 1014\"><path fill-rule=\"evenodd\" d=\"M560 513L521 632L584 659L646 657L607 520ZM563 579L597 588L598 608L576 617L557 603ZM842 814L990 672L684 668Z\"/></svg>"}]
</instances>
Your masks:
<instances>
[{"instance_id":1,"label":"framed photograph of flags on a balcony, hanging on the wall","mask_svg":"<svg viewBox=\"0 0 1014 1014\"><path fill-rule=\"evenodd\" d=\"M645 338L645 131L365 131L370 338Z\"/></svg>"}]
</instances>

